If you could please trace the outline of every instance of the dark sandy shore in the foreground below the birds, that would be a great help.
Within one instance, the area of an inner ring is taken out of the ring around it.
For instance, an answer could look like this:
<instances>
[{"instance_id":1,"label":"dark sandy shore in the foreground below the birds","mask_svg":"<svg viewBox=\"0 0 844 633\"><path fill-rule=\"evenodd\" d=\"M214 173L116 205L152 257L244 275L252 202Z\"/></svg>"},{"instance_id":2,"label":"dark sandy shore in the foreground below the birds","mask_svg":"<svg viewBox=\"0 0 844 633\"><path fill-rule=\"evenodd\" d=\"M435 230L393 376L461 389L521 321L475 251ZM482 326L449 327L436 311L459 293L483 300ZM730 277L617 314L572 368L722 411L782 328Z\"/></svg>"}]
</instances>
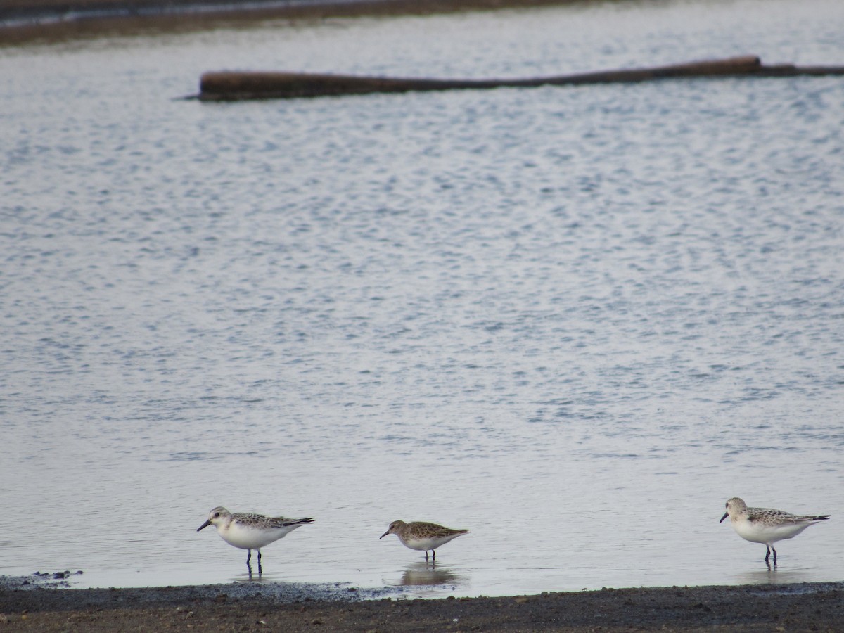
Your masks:
<instances>
[{"instance_id":1,"label":"dark sandy shore in the foreground below the birds","mask_svg":"<svg viewBox=\"0 0 844 633\"><path fill-rule=\"evenodd\" d=\"M405 600L279 583L62 589L11 580L0 584L3 630L840 631L844 623L844 583Z\"/></svg>"}]
</instances>

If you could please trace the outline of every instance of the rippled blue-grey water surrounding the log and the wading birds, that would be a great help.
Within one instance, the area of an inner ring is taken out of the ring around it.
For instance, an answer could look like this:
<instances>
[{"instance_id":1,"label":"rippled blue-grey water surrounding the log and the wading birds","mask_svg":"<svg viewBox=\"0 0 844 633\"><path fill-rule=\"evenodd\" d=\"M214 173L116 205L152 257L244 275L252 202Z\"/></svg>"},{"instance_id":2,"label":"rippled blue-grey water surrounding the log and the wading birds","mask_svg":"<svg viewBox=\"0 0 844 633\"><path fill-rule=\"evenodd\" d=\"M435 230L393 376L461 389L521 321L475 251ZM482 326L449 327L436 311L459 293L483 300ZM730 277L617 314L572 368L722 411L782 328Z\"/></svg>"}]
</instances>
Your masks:
<instances>
[{"instance_id":1,"label":"rippled blue-grey water surrounding the log and the wading birds","mask_svg":"<svg viewBox=\"0 0 844 633\"><path fill-rule=\"evenodd\" d=\"M844 64L838 2L267 22L0 50L0 574L414 595L841 580L844 82L227 105L225 68ZM724 501L825 512L761 545ZM394 519L471 533L436 568Z\"/></svg>"}]
</instances>

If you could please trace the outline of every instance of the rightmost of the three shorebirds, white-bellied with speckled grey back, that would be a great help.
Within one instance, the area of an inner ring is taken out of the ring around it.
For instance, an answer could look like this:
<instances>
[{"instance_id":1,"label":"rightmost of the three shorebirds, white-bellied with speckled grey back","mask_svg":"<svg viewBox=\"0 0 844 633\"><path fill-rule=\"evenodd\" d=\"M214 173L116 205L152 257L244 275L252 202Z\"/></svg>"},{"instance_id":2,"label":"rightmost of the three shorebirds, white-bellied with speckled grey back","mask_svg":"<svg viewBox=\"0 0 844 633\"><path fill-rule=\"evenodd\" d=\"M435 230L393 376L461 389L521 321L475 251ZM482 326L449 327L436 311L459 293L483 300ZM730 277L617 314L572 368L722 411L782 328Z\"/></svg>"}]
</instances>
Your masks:
<instances>
[{"instance_id":1,"label":"rightmost of the three shorebirds, white-bellied with speckled grey back","mask_svg":"<svg viewBox=\"0 0 844 633\"><path fill-rule=\"evenodd\" d=\"M727 502L727 511L721 521L730 517L730 524L738 536L752 543L765 544L767 550L765 562L774 553L776 567L776 541L794 538L810 525L825 521L830 515L796 515L771 508L749 508L743 500L733 497Z\"/></svg>"}]
</instances>

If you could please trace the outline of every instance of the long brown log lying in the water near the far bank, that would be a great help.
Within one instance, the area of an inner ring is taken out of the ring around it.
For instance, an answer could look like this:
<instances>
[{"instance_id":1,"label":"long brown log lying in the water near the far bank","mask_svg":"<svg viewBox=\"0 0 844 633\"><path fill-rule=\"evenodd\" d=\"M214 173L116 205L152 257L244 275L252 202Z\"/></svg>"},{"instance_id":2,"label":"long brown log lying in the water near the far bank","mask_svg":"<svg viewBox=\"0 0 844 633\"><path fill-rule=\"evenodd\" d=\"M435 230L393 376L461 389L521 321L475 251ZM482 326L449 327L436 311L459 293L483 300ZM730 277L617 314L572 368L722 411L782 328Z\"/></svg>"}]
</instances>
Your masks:
<instances>
[{"instance_id":1,"label":"long brown log lying in the water near the far bank","mask_svg":"<svg viewBox=\"0 0 844 633\"><path fill-rule=\"evenodd\" d=\"M844 67L765 66L755 55L688 62L656 68L607 70L598 73L527 79L426 79L365 77L311 73L221 72L204 73L198 98L204 101L297 99L330 95L365 95L376 92L489 88L534 88L544 85L616 84L672 78L794 77L841 75Z\"/></svg>"}]
</instances>

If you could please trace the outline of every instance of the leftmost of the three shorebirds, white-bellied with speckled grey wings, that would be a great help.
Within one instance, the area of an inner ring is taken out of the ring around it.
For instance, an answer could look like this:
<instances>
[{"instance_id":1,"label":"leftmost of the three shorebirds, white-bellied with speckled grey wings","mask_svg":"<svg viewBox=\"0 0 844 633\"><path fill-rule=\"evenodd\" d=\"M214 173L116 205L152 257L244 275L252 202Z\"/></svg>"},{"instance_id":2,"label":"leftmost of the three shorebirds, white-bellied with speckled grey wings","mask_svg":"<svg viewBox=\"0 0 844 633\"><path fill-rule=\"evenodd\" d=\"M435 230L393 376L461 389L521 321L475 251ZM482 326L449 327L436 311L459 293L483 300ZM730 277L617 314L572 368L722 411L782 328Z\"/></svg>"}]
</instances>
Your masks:
<instances>
[{"instance_id":1,"label":"leftmost of the three shorebirds, white-bellied with speckled grey wings","mask_svg":"<svg viewBox=\"0 0 844 633\"><path fill-rule=\"evenodd\" d=\"M258 573L261 570L261 548L271 544L279 538L284 538L287 533L292 532L296 527L312 523L312 517L304 519L288 519L284 517L266 517L262 514L248 512L235 512L232 514L223 506L217 506L208 514L208 521L197 527L199 530L213 525L223 540L235 547L248 549L246 555L246 566L252 574L252 549L258 552Z\"/></svg>"}]
</instances>

